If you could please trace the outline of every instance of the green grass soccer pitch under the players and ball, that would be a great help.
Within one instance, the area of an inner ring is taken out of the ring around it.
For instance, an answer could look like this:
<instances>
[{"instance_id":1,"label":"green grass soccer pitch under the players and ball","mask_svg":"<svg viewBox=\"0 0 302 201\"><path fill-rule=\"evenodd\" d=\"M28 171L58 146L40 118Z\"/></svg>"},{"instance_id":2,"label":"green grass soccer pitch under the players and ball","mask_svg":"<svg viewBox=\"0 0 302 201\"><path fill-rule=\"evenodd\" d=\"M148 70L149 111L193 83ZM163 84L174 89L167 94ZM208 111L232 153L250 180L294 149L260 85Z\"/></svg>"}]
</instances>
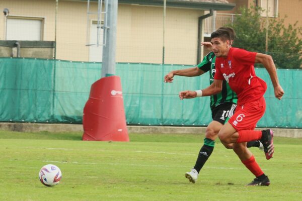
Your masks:
<instances>
[{"instance_id":1,"label":"green grass soccer pitch under the players and ball","mask_svg":"<svg viewBox=\"0 0 302 201\"><path fill-rule=\"evenodd\" d=\"M216 140L195 184L203 135L129 134L130 142L81 141L82 133L0 131L0 200L301 200L302 139L275 137L275 154L251 148L271 180L245 186L252 175ZM55 164L59 185L46 187L40 168Z\"/></svg>"}]
</instances>

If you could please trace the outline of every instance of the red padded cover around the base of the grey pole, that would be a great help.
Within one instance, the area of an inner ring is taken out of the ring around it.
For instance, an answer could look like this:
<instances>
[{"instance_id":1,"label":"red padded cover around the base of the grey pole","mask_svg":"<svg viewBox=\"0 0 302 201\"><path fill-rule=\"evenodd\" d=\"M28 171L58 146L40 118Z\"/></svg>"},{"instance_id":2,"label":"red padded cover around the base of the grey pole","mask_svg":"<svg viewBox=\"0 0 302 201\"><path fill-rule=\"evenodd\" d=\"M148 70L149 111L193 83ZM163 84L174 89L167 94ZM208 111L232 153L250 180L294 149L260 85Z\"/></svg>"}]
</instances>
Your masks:
<instances>
[{"instance_id":1,"label":"red padded cover around the base of the grey pole","mask_svg":"<svg viewBox=\"0 0 302 201\"><path fill-rule=\"evenodd\" d=\"M129 141L119 76L103 77L92 84L83 128L83 140Z\"/></svg>"}]
</instances>

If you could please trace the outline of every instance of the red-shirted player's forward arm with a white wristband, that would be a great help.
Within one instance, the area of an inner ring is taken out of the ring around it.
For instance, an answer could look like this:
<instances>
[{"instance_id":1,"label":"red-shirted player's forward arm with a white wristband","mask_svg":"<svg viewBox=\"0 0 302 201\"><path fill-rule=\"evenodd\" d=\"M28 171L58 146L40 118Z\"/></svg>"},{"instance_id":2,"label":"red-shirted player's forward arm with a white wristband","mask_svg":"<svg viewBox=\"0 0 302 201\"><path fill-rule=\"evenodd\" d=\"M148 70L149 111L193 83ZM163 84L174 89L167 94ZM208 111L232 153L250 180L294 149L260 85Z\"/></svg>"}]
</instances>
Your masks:
<instances>
[{"instance_id":1,"label":"red-shirted player's forward arm with a white wristband","mask_svg":"<svg viewBox=\"0 0 302 201\"><path fill-rule=\"evenodd\" d=\"M214 79L214 82L209 85L207 88L197 91L180 91L179 98L182 100L184 98L194 98L197 96L209 96L217 94L222 90L222 80Z\"/></svg>"}]
</instances>

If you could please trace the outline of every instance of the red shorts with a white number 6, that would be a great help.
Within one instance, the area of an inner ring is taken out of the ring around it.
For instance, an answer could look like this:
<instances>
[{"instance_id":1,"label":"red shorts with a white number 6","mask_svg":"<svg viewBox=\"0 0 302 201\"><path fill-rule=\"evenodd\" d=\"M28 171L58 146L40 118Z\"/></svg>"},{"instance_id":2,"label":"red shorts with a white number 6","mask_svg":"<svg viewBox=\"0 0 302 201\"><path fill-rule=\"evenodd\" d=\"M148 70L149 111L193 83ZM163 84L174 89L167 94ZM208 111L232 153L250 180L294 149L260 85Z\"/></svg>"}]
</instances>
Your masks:
<instances>
[{"instance_id":1,"label":"red shorts with a white number 6","mask_svg":"<svg viewBox=\"0 0 302 201\"><path fill-rule=\"evenodd\" d=\"M254 130L257 122L264 115L265 108L264 97L253 102L245 103L244 105L238 105L229 123L236 131Z\"/></svg>"}]
</instances>

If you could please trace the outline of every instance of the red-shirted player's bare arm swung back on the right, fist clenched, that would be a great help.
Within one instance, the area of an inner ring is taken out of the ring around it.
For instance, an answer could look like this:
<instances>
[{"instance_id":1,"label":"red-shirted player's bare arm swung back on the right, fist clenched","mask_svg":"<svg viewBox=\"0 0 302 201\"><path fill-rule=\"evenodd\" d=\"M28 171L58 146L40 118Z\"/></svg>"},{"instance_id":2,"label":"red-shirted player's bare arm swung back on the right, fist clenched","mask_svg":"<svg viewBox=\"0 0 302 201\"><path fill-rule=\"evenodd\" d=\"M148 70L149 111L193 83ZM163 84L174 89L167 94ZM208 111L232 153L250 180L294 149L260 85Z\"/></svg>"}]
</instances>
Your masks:
<instances>
[{"instance_id":1,"label":"red-shirted player's bare arm swung back on the right, fist clenched","mask_svg":"<svg viewBox=\"0 0 302 201\"><path fill-rule=\"evenodd\" d=\"M255 63L262 63L262 65L264 65L274 86L275 97L280 100L284 94L284 91L279 84L276 66L272 57L267 54L257 53Z\"/></svg>"}]
</instances>

